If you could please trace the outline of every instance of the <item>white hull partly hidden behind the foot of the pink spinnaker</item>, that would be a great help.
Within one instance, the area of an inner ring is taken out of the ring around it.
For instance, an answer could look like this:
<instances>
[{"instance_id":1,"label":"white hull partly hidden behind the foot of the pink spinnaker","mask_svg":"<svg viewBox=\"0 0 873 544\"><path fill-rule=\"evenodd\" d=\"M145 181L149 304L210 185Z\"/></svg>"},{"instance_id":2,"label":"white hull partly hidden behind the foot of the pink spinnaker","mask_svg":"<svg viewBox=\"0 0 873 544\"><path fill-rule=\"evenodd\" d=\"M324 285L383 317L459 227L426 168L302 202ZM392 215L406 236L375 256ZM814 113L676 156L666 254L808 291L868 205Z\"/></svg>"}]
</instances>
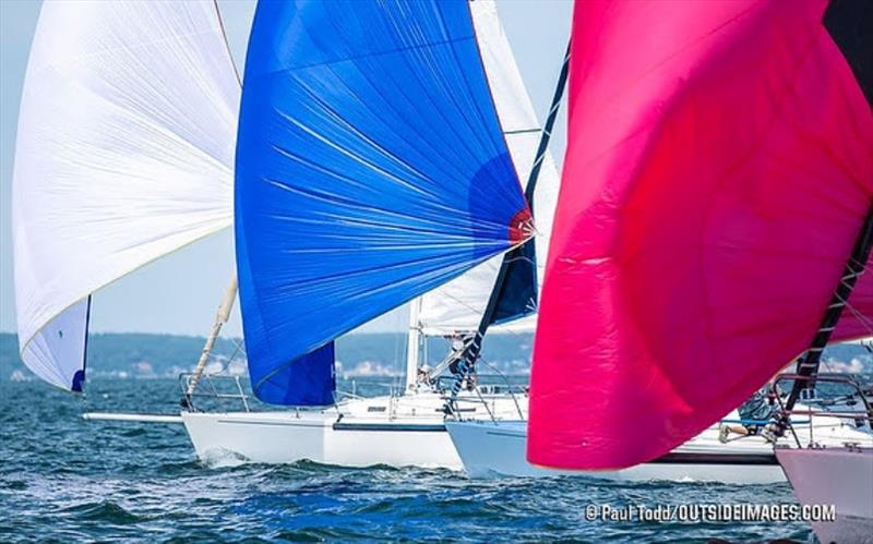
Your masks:
<instances>
[{"instance_id":1,"label":"white hull partly hidden behind the foot of the pink spinnaker","mask_svg":"<svg viewBox=\"0 0 873 544\"><path fill-rule=\"evenodd\" d=\"M618 471L560 471L528 463L527 425L524 421L446 422L446 428L470 477L577 475L625 481L714 481L736 484L785 481L770 444L760 436L733 438L722 444L718 439L718 425L657 462ZM815 434L818 439L829 436L829 440L873 440L870 435L841 425L837 420L823 423L821 428L816 424Z\"/></svg>"}]
</instances>

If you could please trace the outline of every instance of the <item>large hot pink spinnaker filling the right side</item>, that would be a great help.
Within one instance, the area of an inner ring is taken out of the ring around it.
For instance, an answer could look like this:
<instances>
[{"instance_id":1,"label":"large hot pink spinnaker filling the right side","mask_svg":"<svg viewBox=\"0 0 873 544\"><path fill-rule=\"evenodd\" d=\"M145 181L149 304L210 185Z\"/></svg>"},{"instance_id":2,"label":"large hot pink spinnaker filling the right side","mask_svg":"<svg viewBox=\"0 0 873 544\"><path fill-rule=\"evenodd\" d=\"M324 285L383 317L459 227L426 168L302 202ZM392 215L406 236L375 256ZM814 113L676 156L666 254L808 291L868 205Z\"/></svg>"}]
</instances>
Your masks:
<instances>
[{"instance_id":1,"label":"large hot pink spinnaker filling the right side","mask_svg":"<svg viewBox=\"0 0 873 544\"><path fill-rule=\"evenodd\" d=\"M873 114L825 8L577 2L530 462L651 460L810 344L873 200ZM869 335L872 276L835 340Z\"/></svg>"}]
</instances>

